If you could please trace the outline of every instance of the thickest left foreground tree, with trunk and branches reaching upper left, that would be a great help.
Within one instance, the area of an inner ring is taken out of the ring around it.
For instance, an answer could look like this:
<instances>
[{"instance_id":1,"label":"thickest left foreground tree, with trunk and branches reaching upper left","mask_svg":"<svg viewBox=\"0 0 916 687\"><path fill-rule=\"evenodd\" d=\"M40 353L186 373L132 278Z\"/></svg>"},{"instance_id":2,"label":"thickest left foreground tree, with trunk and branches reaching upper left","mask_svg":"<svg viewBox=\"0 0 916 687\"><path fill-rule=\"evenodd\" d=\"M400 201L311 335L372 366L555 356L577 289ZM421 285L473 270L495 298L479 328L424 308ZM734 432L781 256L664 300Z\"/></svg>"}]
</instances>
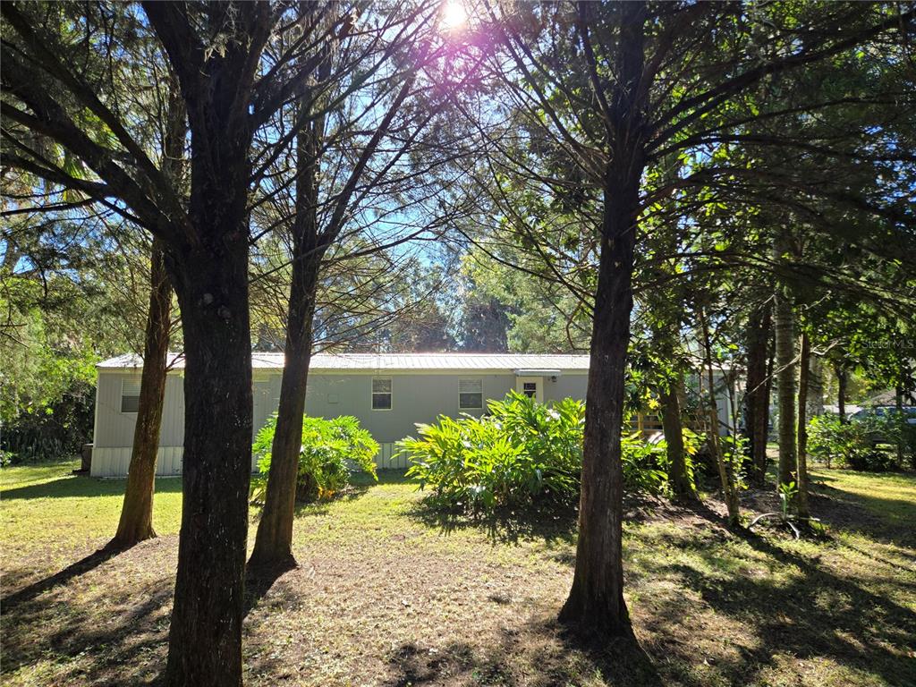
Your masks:
<instances>
[{"instance_id":1,"label":"thickest left foreground tree, with trunk and branches reaching upper left","mask_svg":"<svg viewBox=\"0 0 916 687\"><path fill-rule=\"evenodd\" d=\"M249 153L256 129L299 93L313 65L298 64L302 46L292 41L260 71L283 5L142 6L146 20L126 5L3 5L2 114L15 125L4 128L5 161L79 189L166 245L186 354L183 507L166 680L241 684L252 422ZM105 27L101 38L83 32L86 25ZM147 59L166 60L180 85L191 134L186 203L147 155L150 121L137 124L119 106L132 80L110 78L113 64ZM67 149L92 178L75 178L42 155L33 132Z\"/></svg>"}]
</instances>

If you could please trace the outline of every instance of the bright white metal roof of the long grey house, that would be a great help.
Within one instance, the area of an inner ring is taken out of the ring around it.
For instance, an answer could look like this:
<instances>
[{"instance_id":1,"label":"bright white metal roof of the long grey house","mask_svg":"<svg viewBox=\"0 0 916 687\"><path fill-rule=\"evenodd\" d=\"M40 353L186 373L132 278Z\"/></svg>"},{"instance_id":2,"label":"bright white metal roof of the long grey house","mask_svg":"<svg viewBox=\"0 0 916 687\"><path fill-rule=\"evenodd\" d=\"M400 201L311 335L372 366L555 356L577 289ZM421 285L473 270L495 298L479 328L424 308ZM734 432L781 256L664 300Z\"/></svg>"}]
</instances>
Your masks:
<instances>
[{"instance_id":1,"label":"bright white metal roof of the long grey house","mask_svg":"<svg viewBox=\"0 0 916 687\"><path fill-rule=\"evenodd\" d=\"M169 354L169 363L174 369L184 367L184 356ZM100 370L140 368L143 361L139 355L124 354L109 358L96 365ZM251 354L254 369L270 370L283 368L283 354ZM311 356L310 369L352 370L375 372L381 370L492 370L510 371L573 371L588 369L588 355L551 354L492 354L492 353L319 353Z\"/></svg>"}]
</instances>

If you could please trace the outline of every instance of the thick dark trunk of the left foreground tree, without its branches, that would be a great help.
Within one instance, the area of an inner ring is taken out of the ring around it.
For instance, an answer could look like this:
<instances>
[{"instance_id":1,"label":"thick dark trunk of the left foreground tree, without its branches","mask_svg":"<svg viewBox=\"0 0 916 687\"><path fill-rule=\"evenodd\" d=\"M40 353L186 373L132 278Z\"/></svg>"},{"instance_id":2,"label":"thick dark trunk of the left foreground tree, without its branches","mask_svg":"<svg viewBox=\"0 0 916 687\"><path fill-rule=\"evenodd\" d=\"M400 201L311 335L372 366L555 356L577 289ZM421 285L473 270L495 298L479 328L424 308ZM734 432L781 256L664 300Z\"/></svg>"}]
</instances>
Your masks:
<instances>
[{"instance_id":1,"label":"thick dark trunk of the left foreground tree, without its branches","mask_svg":"<svg viewBox=\"0 0 916 687\"><path fill-rule=\"evenodd\" d=\"M147 16L161 11L155 4L145 6ZM167 261L185 350L169 687L242 685L253 412L247 210L252 132L245 100L238 98L246 60L234 53L231 60L208 63L200 92L185 93L191 122L191 231Z\"/></svg>"}]
</instances>

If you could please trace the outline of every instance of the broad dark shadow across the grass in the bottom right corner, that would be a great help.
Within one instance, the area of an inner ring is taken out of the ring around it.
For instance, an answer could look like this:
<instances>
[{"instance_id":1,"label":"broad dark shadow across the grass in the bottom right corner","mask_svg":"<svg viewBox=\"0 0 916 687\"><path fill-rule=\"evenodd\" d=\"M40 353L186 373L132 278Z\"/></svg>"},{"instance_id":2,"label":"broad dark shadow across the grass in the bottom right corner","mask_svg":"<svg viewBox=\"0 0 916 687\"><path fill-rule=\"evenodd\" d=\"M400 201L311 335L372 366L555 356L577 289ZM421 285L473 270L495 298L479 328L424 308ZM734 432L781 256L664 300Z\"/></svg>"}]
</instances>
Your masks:
<instances>
[{"instance_id":1,"label":"broad dark shadow across the grass in the bottom right corner","mask_svg":"<svg viewBox=\"0 0 916 687\"><path fill-rule=\"evenodd\" d=\"M696 509L698 514L703 508ZM721 518L708 511L721 526ZM878 676L883 682L903 687L916 684L916 661L908 648L916 644L916 614L884 595L875 594L856 581L837 575L808 558L780 547L754 532L739 530L736 536L769 560L798 571L789 582L742 573L710 575L685 562L661 566L657 574L673 574L684 587L699 594L716 614L752 628L755 646L739 647L741 660L720 666L727 679L756 682L761 672L776 669L777 657L791 660L832 660L856 671ZM721 562L715 540L694 538L679 543L711 567ZM677 608L660 609L653 630L662 635L681 622ZM673 625L672 625L673 624ZM682 660L692 659L692 647L673 649Z\"/></svg>"}]
</instances>

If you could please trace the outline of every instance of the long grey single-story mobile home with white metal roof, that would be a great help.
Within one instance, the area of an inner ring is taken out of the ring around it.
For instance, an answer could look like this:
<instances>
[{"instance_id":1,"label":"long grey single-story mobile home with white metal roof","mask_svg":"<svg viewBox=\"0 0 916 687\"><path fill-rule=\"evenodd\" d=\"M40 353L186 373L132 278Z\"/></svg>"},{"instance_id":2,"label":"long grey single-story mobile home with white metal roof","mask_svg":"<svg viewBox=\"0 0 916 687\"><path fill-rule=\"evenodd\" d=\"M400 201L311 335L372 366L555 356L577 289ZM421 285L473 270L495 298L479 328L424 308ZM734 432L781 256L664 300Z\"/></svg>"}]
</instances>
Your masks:
<instances>
[{"instance_id":1,"label":"long grey single-story mobile home with white metal roof","mask_svg":"<svg viewBox=\"0 0 916 687\"><path fill-rule=\"evenodd\" d=\"M139 356L97 365L93 476L127 474L140 393ZM172 356L166 381L157 474L180 474L184 444L183 359ZM252 355L254 431L277 410L283 354ZM306 413L353 415L381 445L379 467L406 467L394 443L438 415L484 412L488 398L510 389L539 401L585 398L588 355L531 354L315 354ZM256 465L252 465L256 469Z\"/></svg>"}]
</instances>

